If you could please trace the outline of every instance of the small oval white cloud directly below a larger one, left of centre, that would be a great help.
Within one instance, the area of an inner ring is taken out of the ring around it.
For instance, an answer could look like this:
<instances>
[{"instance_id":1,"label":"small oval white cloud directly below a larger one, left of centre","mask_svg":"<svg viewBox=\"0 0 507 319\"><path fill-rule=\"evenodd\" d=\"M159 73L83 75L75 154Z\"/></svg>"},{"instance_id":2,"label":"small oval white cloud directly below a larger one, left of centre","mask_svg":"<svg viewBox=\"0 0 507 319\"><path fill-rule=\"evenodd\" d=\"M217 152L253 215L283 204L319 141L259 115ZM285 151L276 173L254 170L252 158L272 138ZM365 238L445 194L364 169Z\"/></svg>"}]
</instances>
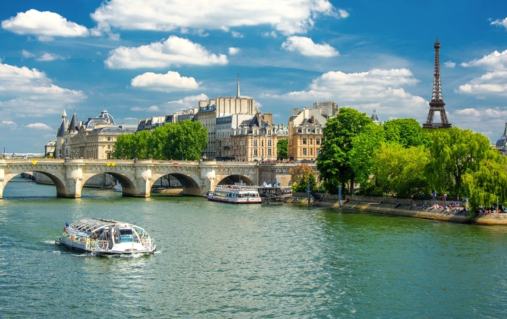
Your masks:
<instances>
[{"instance_id":1,"label":"small oval white cloud directly below a larger one, left of centre","mask_svg":"<svg viewBox=\"0 0 507 319\"><path fill-rule=\"evenodd\" d=\"M178 72L174 71L168 71L167 74L147 72L133 78L131 85L160 92L186 91L199 88L199 83L194 78L180 76Z\"/></svg>"}]
</instances>

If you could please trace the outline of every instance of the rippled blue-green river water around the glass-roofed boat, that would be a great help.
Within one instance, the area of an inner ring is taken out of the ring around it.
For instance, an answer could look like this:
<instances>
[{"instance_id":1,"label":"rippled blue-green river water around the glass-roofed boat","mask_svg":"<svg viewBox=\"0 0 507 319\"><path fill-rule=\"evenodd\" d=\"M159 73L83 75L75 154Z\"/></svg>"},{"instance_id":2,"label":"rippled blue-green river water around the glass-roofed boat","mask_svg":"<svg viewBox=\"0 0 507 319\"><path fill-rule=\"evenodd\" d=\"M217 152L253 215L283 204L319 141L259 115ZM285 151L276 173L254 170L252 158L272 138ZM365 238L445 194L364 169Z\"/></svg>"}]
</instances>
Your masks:
<instances>
[{"instance_id":1,"label":"rippled blue-green river water around the glass-roofed boat","mask_svg":"<svg viewBox=\"0 0 507 319\"><path fill-rule=\"evenodd\" d=\"M146 228L155 255L55 245L65 222ZM10 181L0 200L2 318L499 318L507 228L296 205L122 198Z\"/></svg>"}]
</instances>

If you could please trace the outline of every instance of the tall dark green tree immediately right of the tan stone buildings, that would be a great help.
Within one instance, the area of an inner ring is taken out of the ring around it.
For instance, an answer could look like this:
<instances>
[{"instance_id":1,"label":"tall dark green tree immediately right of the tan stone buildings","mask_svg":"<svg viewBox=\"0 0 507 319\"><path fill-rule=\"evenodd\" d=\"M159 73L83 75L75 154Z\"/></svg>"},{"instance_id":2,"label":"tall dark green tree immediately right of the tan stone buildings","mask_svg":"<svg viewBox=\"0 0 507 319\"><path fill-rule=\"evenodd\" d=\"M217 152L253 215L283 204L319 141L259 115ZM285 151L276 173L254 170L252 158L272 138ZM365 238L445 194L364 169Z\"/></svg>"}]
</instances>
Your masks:
<instances>
[{"instance_id":1,"label":"tall dark green tree immediately right of the tan stone buildings","mask_svg":"<svg viewBox=\"0 0 507 319\"><path fill-rule=\"evenodd\" d=\"M366 113L341 107L335 117L326 121L323 141L317 155L319 178L329 193L338 193L338 185L350 182L354 187L355 173L351 166L351 150L354 137L360 135L372 119Z\"/></svg>"}]
</instances>

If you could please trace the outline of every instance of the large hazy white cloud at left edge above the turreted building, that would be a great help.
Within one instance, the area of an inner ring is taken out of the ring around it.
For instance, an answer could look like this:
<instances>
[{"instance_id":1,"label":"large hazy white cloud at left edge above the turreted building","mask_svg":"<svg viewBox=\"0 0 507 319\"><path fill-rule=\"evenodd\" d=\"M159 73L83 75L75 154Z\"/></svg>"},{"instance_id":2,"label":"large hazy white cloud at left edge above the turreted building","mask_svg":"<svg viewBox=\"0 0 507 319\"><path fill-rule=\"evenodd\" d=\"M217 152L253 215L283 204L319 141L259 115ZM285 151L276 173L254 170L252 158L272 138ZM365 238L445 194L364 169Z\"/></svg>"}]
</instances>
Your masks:
<instances>
[{"instance_id":1,"label":"large hazy white cloud at left edge above the turreted building","mask_svg":"<svg viewBox=\"0 0 507 319\"><path fill-rule=\"evenodd\" d=\"M27 67L0 64L0 110L19 114L58 114L62 103L82 101L81 91L51 83L44 72Z\"/></svg>"}]
</instances>

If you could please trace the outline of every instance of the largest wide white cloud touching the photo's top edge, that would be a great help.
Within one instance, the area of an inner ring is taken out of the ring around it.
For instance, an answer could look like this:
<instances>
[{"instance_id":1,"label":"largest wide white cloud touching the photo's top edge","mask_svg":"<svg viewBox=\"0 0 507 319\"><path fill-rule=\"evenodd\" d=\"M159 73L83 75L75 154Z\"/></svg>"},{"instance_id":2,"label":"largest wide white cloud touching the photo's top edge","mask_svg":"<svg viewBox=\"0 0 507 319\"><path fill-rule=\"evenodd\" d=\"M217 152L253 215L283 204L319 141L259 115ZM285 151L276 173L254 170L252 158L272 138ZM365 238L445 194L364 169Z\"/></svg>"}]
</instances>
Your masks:
<instances>
[{"instance_id":1,"label":"largest wide white cloud touching the photo's top edge","mask_svg":"<svg viewBox=\"0 0 507 319\"><path fill-rule=\"evenodd\" d=\"M111 0L92 13L99 25L125 30L174 31L187 28L224 30L271 25L285 35L306 33L319 15L345 18L329 0ZM220 17L225 17L224 19Z\"/></svg>"}]
</instances>

